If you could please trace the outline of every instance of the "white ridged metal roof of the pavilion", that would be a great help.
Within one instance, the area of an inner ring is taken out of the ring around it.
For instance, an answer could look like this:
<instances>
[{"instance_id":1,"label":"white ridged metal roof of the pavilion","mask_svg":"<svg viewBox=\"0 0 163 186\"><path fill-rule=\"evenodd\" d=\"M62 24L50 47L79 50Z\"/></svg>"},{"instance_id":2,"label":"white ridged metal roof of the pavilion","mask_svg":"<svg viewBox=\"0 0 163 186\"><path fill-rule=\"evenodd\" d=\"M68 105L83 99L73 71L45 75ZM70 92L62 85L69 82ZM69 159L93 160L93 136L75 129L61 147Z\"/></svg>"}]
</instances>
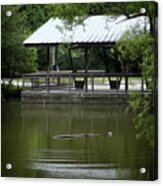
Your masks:
<instances>
[{"instance_id":1,"label":"white ridged metal roof of the pavilion","mask_svg":"<svg viewBox=\"0 0 163 186\"><path fill-rule=\"evenodd\" d=\"M82 24L65 27L64 20L51 18L38 28L24 42L24 45L46 45L60 43L114 43L125 32L136 28L149 30L149 20L145 16L126 19L125 16L90 16Z\"/></svg>"}]
</instances>

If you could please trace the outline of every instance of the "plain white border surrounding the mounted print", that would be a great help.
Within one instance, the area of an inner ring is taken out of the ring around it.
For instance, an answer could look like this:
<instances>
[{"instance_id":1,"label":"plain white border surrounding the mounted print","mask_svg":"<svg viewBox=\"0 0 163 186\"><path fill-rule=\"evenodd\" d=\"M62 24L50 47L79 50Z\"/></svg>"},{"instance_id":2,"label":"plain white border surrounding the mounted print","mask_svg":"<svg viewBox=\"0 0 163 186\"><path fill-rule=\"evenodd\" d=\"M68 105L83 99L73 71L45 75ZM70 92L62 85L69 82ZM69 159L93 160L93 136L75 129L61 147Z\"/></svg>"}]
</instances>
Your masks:
<instances>
[{"instance_id":1,"label":"plain white border surrounding the mounted print","mask_svg":"<svg viewBox=\"0 0 163 186\"><path fill-rule=\"evenodd\" d=\"M1 0L0 4L53 4L53 3L67 3L67 2L109 2L110 0ZM115 2L125 0L113 0ZM110 1L110 2L113 2ZM127 0L128 1L128 0ZM46 178L0 178L0 185L3 186L34 186L39 184L43 185L55 185L55 186L82 186L83 184L89 186L108 186L110 185L163 185L163 1L157 0L159 3L159 180L155 182L144 181L111 181L111 180L73 180L73 179L46 179ZM162 24L162 25L161 25Z\"/></svg>"}]
</instances>

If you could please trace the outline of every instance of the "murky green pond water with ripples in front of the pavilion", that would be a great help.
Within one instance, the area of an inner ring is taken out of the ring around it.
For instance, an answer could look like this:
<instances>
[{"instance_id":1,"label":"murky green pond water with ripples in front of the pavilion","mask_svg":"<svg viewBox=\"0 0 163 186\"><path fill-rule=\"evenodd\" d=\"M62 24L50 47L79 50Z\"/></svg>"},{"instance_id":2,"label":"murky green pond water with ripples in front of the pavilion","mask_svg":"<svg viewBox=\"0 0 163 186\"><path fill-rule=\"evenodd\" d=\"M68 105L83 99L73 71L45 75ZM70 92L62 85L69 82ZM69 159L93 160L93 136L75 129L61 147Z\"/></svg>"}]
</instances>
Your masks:
<instances>
[{"instance_id":1,"label":"murky green pond water with ripples in front of the pavilion","mask_svg":"<svg viewBox=\"0 0 163 186\"><path fill-rule=\"evenodd\" d=\"M132 118L106 105L6 101L2 176L152 180L153 149L136 139Z\"/></svg>"}]
</instances>

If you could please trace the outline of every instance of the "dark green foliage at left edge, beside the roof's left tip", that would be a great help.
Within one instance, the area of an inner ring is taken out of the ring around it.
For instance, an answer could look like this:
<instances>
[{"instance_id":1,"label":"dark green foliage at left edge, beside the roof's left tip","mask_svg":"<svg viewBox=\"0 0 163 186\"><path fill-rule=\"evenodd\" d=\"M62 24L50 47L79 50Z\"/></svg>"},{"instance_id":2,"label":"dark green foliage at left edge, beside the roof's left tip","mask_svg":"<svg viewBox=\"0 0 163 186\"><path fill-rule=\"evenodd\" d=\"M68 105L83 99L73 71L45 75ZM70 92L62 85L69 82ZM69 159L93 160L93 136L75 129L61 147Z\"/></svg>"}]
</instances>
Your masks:
<instances>
[{"instance_id":1,"label":"dark green foliage at left edge, beside the roof's left tip","mask_svg":"<svg viewBox=\"0 0 163 186\"><path fill-rule=\"evenodd\" d=\"M2 78L17 77L37 69L36 49L25 48L23 41L29 35L26 15L19 12L20 6L2 6ZM6 11L12 12L6 16Z\"/></svg>"}]
</instances>

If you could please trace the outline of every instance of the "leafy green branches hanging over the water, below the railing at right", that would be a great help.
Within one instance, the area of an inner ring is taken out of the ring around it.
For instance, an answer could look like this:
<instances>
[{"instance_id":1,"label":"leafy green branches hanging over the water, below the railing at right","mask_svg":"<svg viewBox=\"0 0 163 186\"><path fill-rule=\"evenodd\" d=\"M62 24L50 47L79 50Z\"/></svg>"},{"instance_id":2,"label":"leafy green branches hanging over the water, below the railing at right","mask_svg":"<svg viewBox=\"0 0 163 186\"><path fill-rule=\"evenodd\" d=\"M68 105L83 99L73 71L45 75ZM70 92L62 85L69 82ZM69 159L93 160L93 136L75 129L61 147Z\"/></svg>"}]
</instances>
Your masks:
<instances>
[{"instance_id":1,"label":"leafy green branches hanging over the water, below the railing at right","mask_svg":"<svg viewBox=\"0 0 163 186\"><path fill-rule=\"evenodd\" d=\"M134 111L133 123L137 131L137 139L145 139L151 146L154 146L155 123L153 95L152 94L131 94L130 108Z\"/></svg>"}]
</instances>

